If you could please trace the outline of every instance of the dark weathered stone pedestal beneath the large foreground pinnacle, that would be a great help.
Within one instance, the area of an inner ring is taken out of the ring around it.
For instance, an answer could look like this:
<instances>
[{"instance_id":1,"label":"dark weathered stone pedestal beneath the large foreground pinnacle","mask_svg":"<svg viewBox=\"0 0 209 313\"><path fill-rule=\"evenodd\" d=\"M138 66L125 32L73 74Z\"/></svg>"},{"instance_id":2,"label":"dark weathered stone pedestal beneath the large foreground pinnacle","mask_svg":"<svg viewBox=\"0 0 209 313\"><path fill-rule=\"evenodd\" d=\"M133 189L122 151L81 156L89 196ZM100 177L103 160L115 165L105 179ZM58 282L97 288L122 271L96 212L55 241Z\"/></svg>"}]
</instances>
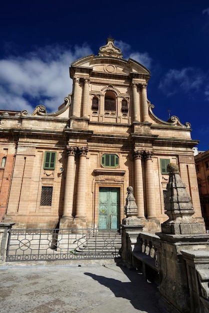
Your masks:
<instances>
[{"instance_id":1,"label":"dark weathered stone pedestal beneath the large foreground pinnacle","mask_svg":"<svg viewBox=\"0 0 209 313\"><path fill-rule=\"evenodd\" d=\"M209 234L173 235L156 233L161 242L162 281L158 286L160 302L172 313L191 313L189 286L181 250L207 250Z\"/></svg>"}]
</instances>

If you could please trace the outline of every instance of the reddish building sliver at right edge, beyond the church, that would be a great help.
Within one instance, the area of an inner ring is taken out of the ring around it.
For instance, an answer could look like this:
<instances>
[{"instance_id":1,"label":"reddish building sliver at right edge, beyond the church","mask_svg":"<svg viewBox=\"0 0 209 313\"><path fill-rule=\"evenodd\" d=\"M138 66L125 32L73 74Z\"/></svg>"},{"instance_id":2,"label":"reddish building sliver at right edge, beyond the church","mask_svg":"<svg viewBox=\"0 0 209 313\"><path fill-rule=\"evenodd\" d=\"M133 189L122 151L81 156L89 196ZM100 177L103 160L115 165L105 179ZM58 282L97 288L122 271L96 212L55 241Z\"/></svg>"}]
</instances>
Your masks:
<instances>
[{"instance_id":1,"label":"reddish building sliver at right edge, beyond the church","mask_svg":"<svg viewBox=\"0 0 209 313\"><path fill-rule=\"evenodd\" d=\"M209 229L209 150L194 156L196 176L205 227Z\"/></svg>"}]
</instances>

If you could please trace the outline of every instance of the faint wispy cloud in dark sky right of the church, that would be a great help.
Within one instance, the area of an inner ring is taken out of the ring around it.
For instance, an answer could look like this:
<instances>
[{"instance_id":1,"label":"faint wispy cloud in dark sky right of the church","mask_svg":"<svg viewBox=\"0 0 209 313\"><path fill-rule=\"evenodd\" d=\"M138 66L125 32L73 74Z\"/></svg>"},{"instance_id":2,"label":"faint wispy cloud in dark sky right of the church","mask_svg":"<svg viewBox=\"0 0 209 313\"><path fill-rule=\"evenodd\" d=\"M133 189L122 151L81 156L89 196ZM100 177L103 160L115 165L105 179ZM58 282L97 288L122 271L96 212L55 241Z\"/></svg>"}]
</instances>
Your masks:
<instances>
[{"instance_id":1,"label":"faint wispy cloud in dark sky right of the church","mask_svg":"<svg viewBox=\"0 0 209 313\"><path fill-rule=\"evenodd\" d=\"M180 70L169 69L159 82L158 88L167 96L179 91L197 91L204 81L201 69L184 67Z\"/></svg>"}]
</instances>

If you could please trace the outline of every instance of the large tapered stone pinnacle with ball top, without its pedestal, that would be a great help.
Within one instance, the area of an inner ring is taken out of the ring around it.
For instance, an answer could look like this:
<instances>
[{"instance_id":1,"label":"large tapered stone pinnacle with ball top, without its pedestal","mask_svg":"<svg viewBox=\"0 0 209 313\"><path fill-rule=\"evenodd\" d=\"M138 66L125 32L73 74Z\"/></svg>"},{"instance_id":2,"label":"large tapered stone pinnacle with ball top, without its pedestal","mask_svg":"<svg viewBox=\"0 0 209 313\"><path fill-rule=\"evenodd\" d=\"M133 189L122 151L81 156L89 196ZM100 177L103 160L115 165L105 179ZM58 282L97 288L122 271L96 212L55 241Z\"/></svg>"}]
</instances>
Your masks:
<instances>
[{"instance_id":1,"label":"large tapered stone pinnacle with ball top, without its pedestal","mask_svg":"<svg viewBox=\"0 0 209 313\"><path fill-rule=\"evenodd\" d=\"M185 183L180 178L178 165L167 165L169 182L165 198L165 214L169 219L161 224L161 231L170 234L203 233L203 225L192 218L194 214L191 198Z\"/></svg>"}]
</instances>

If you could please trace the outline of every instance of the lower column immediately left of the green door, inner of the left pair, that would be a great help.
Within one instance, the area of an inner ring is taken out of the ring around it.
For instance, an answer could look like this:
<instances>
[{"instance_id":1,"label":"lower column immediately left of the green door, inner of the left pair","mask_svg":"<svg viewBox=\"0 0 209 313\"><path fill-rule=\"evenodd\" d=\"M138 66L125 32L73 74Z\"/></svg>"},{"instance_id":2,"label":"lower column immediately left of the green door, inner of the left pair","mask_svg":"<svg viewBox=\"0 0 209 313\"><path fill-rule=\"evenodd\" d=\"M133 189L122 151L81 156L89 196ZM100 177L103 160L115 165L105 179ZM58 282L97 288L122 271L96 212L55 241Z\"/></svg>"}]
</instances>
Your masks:
<instances>
[{"instance_id":1,"label":"lower column immediately left of the green door, inner of the left pair","mask_svg":"<svg viewBox=\"0 0 209 313\"><path fill-rule=\"evenodd\" d=\"M85 184L86 184L86 155L87 146L78 147L79 168L77 177L77 198L75 217L85 217Z\"/></svg>"}]
</instances>

